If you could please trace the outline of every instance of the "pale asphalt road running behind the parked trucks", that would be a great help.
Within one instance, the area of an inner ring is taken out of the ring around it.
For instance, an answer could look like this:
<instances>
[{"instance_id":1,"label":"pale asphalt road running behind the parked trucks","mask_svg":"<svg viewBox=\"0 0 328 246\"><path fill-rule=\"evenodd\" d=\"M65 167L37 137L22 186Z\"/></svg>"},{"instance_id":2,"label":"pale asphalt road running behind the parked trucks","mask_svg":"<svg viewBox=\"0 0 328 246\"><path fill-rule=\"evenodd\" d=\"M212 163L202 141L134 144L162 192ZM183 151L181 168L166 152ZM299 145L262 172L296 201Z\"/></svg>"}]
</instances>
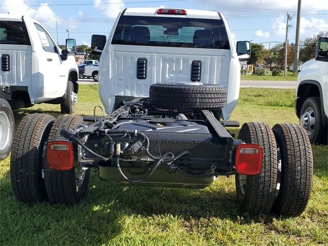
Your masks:
<instances>
[{"instance_id":1,"label":"pale asphalt road running behind the parked trucks","mask_svg":"<svg viewBox=\"0 0 328 246\"><path fill-rule=\"evenodd\" d=\"M98 84L92 78L79 79L80 85L96 85ZM281 89L295 89L296 81L272 81L272 80L241 80L241 87L255 87L255 88L281 88Z\"/></svg>"}]
</instances>

